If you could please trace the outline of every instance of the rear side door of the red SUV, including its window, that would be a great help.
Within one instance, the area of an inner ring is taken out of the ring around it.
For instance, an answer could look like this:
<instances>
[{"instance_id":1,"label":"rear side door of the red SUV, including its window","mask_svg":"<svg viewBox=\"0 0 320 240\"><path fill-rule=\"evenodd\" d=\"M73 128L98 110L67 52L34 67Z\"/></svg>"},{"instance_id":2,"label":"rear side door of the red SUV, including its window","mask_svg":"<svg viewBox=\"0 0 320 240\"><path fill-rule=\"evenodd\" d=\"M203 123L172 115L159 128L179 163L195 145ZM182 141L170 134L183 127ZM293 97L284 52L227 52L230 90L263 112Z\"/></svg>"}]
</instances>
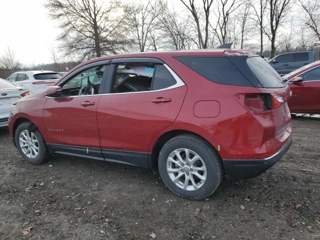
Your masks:
<instances>
[{"instance_id":1,"label":"rear side door of the red SUV, including its window","mask_svg":"<svg viewBox=\"0 0 320 240\"><path fill-rule=\"evenodd\" d=\"M112 60L106 92L97 107L106 160L147 166L154 135L175 120L187 87L163 62L152 58Z\"/></svg>"}]
</instances>

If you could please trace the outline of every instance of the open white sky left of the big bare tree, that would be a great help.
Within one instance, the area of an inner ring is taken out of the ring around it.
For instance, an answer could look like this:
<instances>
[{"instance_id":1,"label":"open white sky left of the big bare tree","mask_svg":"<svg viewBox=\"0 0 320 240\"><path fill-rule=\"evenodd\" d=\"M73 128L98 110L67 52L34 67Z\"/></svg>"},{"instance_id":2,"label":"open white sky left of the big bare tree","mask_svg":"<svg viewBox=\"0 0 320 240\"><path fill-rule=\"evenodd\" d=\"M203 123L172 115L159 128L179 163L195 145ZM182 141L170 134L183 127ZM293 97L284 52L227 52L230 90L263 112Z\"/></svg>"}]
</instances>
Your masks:
<instances>
[{"instance_id":1,"label":"open white sky left of the big bare tree","mask_svg":"<svg viewBox=\"0 0 320 240\"><path fill-rule=\"evenodd\" d=\"M7 46L22 64L51 62L49 47L59 29L43 6L44 0L1 0L0 55Z\"/></svg>"}]
</instances>

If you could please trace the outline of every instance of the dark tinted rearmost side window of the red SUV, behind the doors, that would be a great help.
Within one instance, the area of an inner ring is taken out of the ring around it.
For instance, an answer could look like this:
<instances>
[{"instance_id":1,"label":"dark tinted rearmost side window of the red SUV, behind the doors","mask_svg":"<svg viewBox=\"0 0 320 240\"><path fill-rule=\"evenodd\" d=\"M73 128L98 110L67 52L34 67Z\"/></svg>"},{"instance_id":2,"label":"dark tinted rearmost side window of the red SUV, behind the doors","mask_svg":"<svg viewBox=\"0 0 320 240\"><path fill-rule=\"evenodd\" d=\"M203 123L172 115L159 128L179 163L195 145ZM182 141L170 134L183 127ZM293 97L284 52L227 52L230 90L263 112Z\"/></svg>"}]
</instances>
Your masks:
<instances>
[{"instance_id":1,"label":"dark tinted rearmost side window of the red SUV, behind the doors","mask_svg":"<svg viewBox=\"0 0 320 240\"><path fill-rule=\"evenodd\" d=\"M226 57L176 56L175 59L210 81L228 85L252 86L251 82Z\"/></svg>"}]
</instances>

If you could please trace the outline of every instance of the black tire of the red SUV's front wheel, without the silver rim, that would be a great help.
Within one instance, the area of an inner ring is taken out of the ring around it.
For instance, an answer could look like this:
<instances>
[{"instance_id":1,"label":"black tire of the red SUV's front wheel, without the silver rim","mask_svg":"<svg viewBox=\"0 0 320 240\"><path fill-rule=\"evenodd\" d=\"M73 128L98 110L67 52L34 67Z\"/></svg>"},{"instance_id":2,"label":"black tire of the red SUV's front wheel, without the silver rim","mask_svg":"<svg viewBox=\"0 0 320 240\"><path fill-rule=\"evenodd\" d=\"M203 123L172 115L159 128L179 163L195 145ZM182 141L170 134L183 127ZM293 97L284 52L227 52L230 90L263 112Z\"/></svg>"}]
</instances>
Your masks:
<instances>
[{"instance_id":1,"label":"black tire of the red SUV's front wheel, without the silver rim","mask_svg":"<svg viewBox=\"0 0 320 240\"><path fill-rule=\"evenodd\" d=\"M37 128L31 127L31 129L32 128L33 129L30 131L35 135L37 142L38 142L38 148L39 148L38 154L34 158L28 157L26 154L24 154L21 147L20 147L20 144L19 144L19 135L20 135L21 131L28 130L28 128L31 125L32 125L32 123L30 121L24 121L20 125L18 125L18 127L16 128L16 131L15 131L15 136L14 136L15 145L16 145L16 148L18 149L19 153L21 154L21 156L24 158L24 160L26 160L32 164L40 164L40 163L48 161L50 154L46 148L43 137L41 136L41 134Z\"/></svg>"}]
</instances>

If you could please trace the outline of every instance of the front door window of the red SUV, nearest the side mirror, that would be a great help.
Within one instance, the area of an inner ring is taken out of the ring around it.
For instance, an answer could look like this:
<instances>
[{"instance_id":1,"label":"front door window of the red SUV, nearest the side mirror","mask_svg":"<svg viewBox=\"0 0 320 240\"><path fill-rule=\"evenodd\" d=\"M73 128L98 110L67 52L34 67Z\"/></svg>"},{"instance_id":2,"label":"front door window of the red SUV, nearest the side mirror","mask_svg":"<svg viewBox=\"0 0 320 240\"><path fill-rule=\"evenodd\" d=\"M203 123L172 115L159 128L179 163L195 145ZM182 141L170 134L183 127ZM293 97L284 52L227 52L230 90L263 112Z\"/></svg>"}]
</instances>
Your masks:
<instances>
[{"instance_id":1,"label":"front door window of the red SUV, nearest the side mirror","mask_svg":"<svg viewBox=\"0 0 320 240\"><path fill-rule=\"evenodd\" d=\"M87 68L60 84L63 96L98 94L105 64Z\"/></svg>"}]
</instances>

